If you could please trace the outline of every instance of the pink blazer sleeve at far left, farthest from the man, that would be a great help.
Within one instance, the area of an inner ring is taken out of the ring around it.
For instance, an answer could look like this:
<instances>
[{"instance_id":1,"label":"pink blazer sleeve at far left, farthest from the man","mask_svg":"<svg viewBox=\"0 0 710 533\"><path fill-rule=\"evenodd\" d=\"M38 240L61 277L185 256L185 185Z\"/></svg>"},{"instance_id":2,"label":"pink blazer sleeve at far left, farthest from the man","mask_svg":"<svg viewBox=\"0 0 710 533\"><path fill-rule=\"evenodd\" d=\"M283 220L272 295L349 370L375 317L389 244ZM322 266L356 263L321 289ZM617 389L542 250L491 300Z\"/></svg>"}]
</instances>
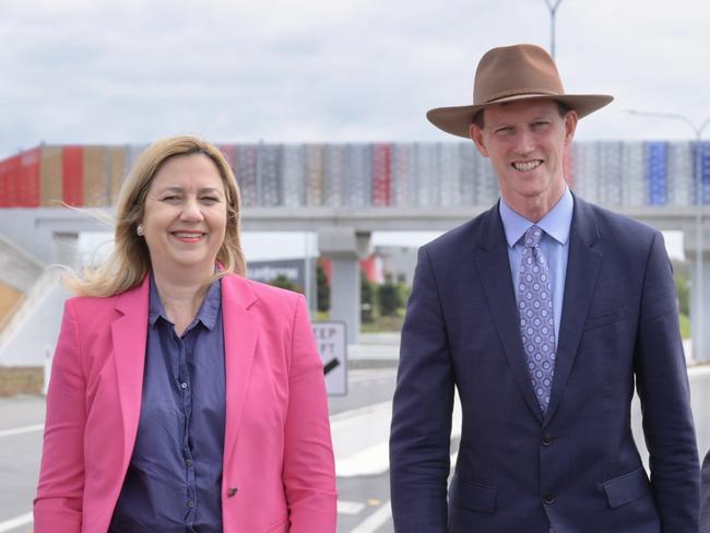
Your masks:
<instances>
[{"instance_id":1,"label":"pink blazer sleeve at far left, farthest from the man","mask_svg":"<svg viewBox=\"0 0 710 533\"><path fill-rule=\"evenodd\" d=\"M35 533L81 531L85 389L76 315L70 299L64 305L47 392L44 450L34 501Z\"/></svg>"}]
</instances>

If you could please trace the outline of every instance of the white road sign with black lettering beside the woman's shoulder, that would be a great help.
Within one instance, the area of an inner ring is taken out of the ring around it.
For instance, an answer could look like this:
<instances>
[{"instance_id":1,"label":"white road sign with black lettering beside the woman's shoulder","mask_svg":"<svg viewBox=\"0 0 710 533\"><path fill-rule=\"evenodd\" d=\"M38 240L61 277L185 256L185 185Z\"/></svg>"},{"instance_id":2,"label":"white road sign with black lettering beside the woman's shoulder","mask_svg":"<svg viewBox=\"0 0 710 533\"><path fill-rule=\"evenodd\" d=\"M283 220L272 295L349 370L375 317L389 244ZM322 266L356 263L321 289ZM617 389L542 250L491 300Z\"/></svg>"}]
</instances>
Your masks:
<instances>
[{"instance_id":1,"label":"white road sign with black lettering beside the woman's shoulder","mask_svg":"<svg viewBox=\"0 0 710 533\"><path fill-rule=\"evenodd\" d=\"M323 362L326 389L329 395L347 394L347 336L345 322L313 322L313 335Z\"/></svg>"}]
</instances>

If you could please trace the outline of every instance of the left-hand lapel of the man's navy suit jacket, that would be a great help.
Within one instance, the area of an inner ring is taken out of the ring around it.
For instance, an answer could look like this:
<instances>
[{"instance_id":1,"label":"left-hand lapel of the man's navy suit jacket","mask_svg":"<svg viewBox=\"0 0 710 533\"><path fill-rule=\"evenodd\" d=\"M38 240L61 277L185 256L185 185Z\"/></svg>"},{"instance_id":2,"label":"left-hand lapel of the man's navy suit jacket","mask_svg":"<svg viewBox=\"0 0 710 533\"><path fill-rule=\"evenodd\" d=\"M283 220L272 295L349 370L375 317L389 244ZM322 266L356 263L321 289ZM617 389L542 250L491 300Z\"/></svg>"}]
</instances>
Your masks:
<instances>
[{"instance_id":1,"label":"left-hand lapel of the man's navy suit jacket","mask_svg":"<svg viewBox=\"0 0 710 533\"><path fill-rule=\"evenodd\" d=\"M498 206L488 211L480 240L476 266L490 307L498 337L520 391L534 416L542 423L542 413L530 383L525 355L520 337L520 321L512 287L510 260Z\"/></svg>"}]
</instances>

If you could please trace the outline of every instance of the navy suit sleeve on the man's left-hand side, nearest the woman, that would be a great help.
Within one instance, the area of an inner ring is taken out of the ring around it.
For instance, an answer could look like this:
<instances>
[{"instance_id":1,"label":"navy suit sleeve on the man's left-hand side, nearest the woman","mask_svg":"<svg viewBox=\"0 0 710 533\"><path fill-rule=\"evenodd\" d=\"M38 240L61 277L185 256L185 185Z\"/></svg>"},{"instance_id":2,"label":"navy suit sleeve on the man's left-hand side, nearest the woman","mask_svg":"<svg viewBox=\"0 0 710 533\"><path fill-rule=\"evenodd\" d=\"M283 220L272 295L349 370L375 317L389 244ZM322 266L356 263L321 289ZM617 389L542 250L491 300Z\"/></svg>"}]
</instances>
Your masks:
<instances>
[{"instance_id":1,"label":"navy suit sleeve on the man's left-hand side, nearest the woman","mask_svg":"<svg viewBox=\"0 0 710 533\"><path fill-rule=\"evenodd\" d=\"M436 275L419 250L402 329L390 435L392 516L398 532L447 532L453 369Z\"/></svg>"}]
</instances>

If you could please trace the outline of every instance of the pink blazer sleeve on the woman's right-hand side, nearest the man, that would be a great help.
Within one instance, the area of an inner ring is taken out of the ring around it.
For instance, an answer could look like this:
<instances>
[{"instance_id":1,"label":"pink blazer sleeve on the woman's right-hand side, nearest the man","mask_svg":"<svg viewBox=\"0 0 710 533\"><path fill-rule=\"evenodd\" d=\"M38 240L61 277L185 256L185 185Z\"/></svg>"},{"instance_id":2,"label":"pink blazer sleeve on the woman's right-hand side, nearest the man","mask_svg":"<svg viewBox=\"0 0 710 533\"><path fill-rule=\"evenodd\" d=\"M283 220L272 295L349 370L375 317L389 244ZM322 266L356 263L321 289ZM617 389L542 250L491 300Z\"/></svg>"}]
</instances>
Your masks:
<instances>
[{"instance_id":1,"label":"pink blazer sleeve on the woman's right-hand side, nearest the man","mask_svg":"<svg viewBox=\"0 0 710 533\"><path fill-rule=\"evenodd\" d=\"M336 490L323 365L299 296L293 328L284 487L289 533L335 533Z\"/></svg>"}]
</instances>

